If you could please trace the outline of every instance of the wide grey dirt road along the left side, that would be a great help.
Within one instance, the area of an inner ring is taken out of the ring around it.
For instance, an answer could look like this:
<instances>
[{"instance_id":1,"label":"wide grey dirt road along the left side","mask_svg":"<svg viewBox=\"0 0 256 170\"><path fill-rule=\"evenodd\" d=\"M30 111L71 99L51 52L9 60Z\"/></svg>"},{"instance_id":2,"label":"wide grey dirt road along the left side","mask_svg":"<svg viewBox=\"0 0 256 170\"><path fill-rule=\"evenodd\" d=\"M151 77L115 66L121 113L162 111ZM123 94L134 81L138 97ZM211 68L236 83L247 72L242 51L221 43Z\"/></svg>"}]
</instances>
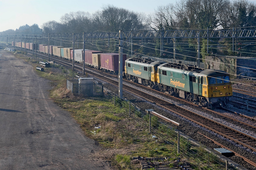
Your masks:
<instances>
[{"instance_id":1,"label":"wide grey dirt road along the left side","mask_svg":"<svg viewBox=\"0 0 256 170\"><path fill-rule=\"evenodd\" d=\"M0 50L0 169L110 169L49 89L31 65Z\"/></svg>"}]
</instances>

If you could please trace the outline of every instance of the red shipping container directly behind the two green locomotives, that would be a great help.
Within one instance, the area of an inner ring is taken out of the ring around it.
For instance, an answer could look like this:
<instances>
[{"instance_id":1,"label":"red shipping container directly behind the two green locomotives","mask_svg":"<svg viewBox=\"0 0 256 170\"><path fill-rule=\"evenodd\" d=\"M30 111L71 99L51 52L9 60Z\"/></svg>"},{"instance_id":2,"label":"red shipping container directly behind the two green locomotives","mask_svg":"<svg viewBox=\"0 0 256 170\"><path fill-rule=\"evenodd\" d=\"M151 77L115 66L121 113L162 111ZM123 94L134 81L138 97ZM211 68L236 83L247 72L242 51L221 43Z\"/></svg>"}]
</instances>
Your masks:
<instances>
[{"instance_id":1,"label":"red shipping container directly behind the two green locomotives","mask_svg":"<svg viewBox=\"0 0 256 170\"><path fill-rule=\"evenodd\" d=\"M123 70L126 60L126 54L123 54ZM114 71L119 71L119 54L118 53L101 53L101 68Z\"/></svg>"}]
</instances>

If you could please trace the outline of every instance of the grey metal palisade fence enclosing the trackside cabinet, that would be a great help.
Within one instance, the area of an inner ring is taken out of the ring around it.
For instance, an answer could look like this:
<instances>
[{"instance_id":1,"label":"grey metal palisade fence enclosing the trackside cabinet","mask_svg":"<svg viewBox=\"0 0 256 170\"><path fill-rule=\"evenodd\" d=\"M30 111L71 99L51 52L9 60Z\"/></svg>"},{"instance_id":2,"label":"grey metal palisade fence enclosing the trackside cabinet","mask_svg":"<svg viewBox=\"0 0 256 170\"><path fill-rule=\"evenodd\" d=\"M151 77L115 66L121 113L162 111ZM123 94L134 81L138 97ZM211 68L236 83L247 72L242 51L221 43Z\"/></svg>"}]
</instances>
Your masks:
<instances>
[{"instance_id":1,"label":"grey metal palisade fence enclosing the trackside cabinet","mask_svg":"<svg viewBox=\"0 0 256 170\"><path fill-rule=\"evenodd\" d=\"M86 97L103 97L102 83L79 83L77 79L67 80L67 89L71 90L74 95Z\"/></svg>"}]
</instances>

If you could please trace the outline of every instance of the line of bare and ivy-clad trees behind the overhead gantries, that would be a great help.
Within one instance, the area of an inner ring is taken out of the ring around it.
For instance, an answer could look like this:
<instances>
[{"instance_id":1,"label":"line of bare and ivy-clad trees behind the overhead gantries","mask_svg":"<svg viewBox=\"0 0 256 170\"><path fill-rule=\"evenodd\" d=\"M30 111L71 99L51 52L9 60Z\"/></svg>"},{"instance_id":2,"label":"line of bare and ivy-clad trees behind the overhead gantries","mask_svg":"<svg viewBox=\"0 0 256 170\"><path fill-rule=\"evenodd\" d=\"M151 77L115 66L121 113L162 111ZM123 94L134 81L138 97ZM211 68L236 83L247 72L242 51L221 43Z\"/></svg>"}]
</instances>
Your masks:
<instances>
[{"instance_id":1,"label":"line of bare and ivy-clad trees behind the overhead gantries","mask_svg":"<svg viewBox=\"0 0 256 170\"><path fill-rule=\"evenodd\" d=\"M172 29L255 29L256 4L248 0L180 0L175 4L167 4L156 7L149 15L133 12L114 5L105 5L101 10L90 14L77 11L62 15L60 22L51 20L43 23L41 28L37 24L23 25L16 30L7 30L0 34L48 34L48 33L82 33L82 32L118 32L119 30L172 30ZM209 53L219 55L255 56L251 51L256 46L237 45L233 50L232 39L211 39L209 42L202 39L200 42L201 58ZM240 39L242 41L242 39ZM245 40L245 39L244 39ZM255 42L254 38L246 39L247 42ZM111 42L110 42L111 43ZM115 44L116 42L113 42ZM196 39L176 39L176 58L184 60L196 60ZM95 44L99 50L109 52L116 51L115 46L104 43ZM104 46L104 47L103 47ZM147 42L151 49L141 46L140 42L134 44L133 51L138 54L156 57L173 57L173 42L165 43L164 53L160 53L160 41L158 39ZM242 49L239 49L242 47ZM130 53L130 46L127 46Z\"/></svg>"}]
</instances>

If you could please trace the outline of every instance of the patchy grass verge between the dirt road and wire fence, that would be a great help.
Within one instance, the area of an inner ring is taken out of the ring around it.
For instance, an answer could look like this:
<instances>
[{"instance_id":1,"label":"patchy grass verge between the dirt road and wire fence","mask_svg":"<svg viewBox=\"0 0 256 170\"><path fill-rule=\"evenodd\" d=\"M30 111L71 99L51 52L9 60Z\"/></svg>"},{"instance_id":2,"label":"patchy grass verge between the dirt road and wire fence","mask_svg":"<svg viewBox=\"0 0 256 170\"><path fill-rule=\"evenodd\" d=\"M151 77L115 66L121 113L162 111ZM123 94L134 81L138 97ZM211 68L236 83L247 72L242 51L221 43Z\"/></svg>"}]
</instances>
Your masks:
<instances>
[{"instance_id":1,"label":"patchy grass verge between the dirt road and wire fence","mask_svg":"<svg viewBox=\"0 0 256 170\"><path fill-rule=\"evenodd\" d=\"M23 54L16 54L16 57L31 63L34 70L40 66L37 61ZM177 149L173 144L165 144L161 139L152 138L151 134L148 134L148 126L143 123L148 120L147 116L141 119L140 112L135 111L133 115L135 118L129 117L126 102L114 106L106 97L77 97L66 89L66 77L52 72L51 68L44 68L43 72L36 70L36 72L41 77L50 80L53 86L50 90L50 97L70 112L86 136L94 139L104 148L102 152L106 155L106 159L110 160L116 168L141 169L140 164L135 164L131 160L136 156L166 157L169 160L182 157L176 154ZM116 101L118 101L117 98ZM131 110L134 111L134 108ZM156 117L152 117L151 121L154 119ZM157 122L157 119L154 122ZM157 124L151 123L151 125L159 130L162 128ZM171 166L173 164L170 164ZM195 167L195 169L200 168Z\"/></svg>"}]
</instances>

